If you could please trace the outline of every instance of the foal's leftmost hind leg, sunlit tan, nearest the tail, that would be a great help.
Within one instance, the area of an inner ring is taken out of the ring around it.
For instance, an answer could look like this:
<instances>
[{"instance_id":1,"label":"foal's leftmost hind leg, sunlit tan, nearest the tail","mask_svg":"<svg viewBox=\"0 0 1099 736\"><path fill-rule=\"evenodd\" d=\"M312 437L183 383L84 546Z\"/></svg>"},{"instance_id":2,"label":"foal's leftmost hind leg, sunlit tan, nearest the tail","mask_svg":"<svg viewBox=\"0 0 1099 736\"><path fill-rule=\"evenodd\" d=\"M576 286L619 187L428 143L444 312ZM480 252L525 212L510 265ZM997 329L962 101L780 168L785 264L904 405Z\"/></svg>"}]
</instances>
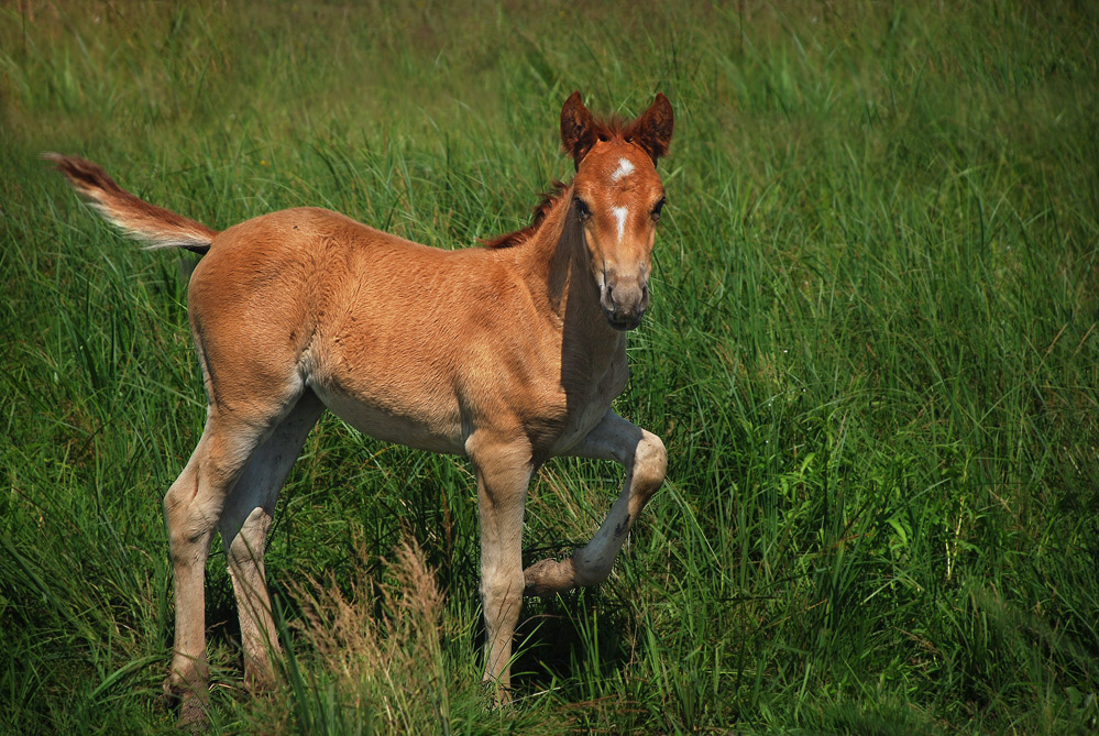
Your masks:
<instances>
[{"instance_id":1,"label":"foal's leftmost hind leg, sunlit tan, nearest the tail","mask_svg":"<svg viewBox=\"0 0 1099 736\"><path fill-rule=\"evenodd\" d=\"M182 723L205 717L206 560L229 491L262 441L254 425L211 410L187 466L164 497L172 550L176 633L165 692L180 696Z\"/></svg>"}]
</instances>

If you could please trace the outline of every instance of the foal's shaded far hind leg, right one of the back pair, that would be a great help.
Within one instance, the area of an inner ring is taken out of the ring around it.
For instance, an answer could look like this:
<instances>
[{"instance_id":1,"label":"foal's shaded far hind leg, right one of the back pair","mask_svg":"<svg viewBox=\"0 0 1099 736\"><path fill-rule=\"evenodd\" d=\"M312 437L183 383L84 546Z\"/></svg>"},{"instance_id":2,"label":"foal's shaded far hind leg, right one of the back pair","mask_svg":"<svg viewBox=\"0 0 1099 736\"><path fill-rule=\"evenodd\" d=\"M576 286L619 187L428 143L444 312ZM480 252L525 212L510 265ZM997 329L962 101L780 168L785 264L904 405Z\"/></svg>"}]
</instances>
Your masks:
<instances>
[{"instance_id":1,"label":"foal's shaded far hind leg, right one of the back pair","mask_svg":"<svg viewBox=\"0 0 1099 736\"><path fill-rule=\"evenodd\" d=\"M309 430L325 411L306 391L294 409L249 460L221 515L221 538L229 558L244 649L244 683L253 692L268 689L274 673L268 652L278 651L264 573L267 530L278 491L294 466Z\"/></svg>"}]
</instances>

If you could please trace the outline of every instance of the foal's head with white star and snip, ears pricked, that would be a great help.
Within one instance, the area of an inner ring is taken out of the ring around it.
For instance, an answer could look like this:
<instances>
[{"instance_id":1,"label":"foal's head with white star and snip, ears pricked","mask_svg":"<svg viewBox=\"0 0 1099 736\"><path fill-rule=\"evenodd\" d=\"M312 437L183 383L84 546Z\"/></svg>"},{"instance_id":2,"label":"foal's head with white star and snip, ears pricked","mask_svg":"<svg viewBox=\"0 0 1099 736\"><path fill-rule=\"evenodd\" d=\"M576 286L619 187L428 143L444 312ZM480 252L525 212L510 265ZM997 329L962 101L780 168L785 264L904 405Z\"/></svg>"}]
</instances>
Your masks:
<instances>
[{"instance_id":1,"label":"foal's head with white star and snip, ears pricked","mask_svg":"<svg viewBox=\"0 0 1099 736\"><path fill-rule=\"evenodd\" d=\"M668 151L672 109L656 101L629 123L595 120L573 92L561 110L561 143L576 162L572 207L591 254L600 304L617 330L631 330L649 306L649 262L664 204L657 158Z\"/></svg>"}]
</instances>

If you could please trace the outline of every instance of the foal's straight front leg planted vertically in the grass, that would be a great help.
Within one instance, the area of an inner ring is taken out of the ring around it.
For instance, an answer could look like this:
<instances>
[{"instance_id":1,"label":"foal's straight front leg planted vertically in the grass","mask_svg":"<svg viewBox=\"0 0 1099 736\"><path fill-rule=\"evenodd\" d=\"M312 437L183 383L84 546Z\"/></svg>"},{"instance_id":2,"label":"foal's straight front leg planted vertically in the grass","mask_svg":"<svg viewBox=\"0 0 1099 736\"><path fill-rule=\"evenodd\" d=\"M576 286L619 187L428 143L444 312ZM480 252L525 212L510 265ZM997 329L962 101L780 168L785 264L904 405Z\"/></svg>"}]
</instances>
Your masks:
<instances>
[{"instance_id":1,"label":"foal's straight front leg planted vertically in the grass","mask_svg":"<svg viewBox=\"0 0 1099 736\"><path fill-rule=\"evenodd\" d=\"M530 446L479 431L465 443L477 474L481 596L485 616L484 681L508 700L512 638L523 606L523 507L534 473Z\"/></svg>"}]
</instances>

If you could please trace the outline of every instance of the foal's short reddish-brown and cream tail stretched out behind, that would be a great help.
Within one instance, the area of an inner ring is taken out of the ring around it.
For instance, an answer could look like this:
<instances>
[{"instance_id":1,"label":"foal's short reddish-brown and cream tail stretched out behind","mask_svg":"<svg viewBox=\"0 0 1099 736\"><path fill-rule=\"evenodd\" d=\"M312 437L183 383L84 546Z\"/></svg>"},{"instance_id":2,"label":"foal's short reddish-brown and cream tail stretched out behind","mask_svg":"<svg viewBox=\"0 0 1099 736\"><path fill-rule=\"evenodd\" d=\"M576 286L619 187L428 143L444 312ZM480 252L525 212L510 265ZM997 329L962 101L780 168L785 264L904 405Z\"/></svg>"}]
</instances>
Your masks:
<instances>
[{"instance_id":1,"label":"foal's short reddish-brown and cream tail stretched out behind","mask_svg":"<svg viewBox=\"0 0 1099 736\"><path fill-rule=\"evenodd\" d=\"M59 153L44 153L42 157L55 164L73 188L100 215L128 235L144 240L149 243L147 249L186 248L206 253L218 234L201 222L138 199L90 161Z\"/></svg>"}]
</instances>

